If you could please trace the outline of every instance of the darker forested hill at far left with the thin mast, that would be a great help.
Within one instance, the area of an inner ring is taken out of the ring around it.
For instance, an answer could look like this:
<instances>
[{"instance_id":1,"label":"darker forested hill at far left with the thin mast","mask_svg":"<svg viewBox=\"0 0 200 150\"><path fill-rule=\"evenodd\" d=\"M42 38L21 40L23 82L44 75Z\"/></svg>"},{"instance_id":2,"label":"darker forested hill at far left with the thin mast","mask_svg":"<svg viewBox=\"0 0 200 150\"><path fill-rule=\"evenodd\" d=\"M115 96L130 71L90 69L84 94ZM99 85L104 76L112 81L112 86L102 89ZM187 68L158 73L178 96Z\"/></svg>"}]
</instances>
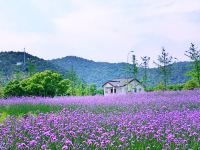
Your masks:
<instances>
[{"instance_id":1,"label":"darker forested hill at far left with the thin mast","mask_svg":"<svg viewBox=\"0 0 200 150\"><path fill-rule=\"evenodd\" d=\"M62 73L63 69L59 66L52 64L49 61L32 56L25 53L25 65L24 65L24 53L23 52L0 52L0 73L5 79L9 80L11 76L19 71L25 72L28 69L30 63L35 65L35 71L43 71L46 69L55 70Z\"/></svg>"}]
</instances>

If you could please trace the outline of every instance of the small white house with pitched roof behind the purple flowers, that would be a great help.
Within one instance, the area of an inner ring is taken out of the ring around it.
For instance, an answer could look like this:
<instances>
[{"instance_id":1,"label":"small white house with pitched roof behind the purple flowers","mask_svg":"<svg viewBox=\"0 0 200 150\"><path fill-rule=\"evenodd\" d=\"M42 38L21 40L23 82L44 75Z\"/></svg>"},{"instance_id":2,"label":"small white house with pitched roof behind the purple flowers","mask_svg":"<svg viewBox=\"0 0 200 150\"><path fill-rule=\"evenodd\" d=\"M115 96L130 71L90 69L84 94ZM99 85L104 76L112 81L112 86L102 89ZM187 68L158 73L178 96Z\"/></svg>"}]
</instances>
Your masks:
<instances>
[{"instance_id":1,"label":"small white house with pitched roof behind the purple flowers","mask_svg":"<svg viewBox=\"0 0 200 150\"><path fill-rule=\"evenodd\" d=\"M104 95L144 92L144 86L137 79L114 79L103 84Z\"/></svg>"}]
</instances>

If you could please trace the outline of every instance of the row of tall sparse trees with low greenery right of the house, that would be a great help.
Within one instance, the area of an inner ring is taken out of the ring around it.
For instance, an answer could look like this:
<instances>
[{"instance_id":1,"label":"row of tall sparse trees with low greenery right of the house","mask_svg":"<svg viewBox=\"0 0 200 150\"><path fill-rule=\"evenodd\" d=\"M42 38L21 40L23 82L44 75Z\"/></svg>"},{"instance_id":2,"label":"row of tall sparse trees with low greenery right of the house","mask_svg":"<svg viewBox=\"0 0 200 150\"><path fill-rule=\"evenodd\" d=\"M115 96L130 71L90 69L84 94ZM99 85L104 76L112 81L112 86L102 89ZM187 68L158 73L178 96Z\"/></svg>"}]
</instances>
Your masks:
<instances>
[{"instance_id":1,"label":"row of tall sparse trees with low greenery right of the house","mask_svg":"<svg viewBox=\"0 0 200 150\"><path fill-rule=\"evenodd\" d=\"M186 83L182 84L170 84L169 79L172 75L173 64L176 63L177 59L170 56L167 53L166 49L163 48L160 55L158 55L157 61L154 61L154 64L159 68L161 82L157 86L146 86L147 91L156 91L156 90L191 90L195 88L200 88L200 50L198 50L193 43L189 50L185 51L185 55L191 60L191 71L186 73L186 76L190 77ZM141 57L142 63L139 65L135 56L133 55L133 64L129 66L129 71L132 72L133 77L137 77L138 67L144 69L142 83L147 85L149 81L149 74L147 69L149 67L150 57L144 56Z\"/></svg>"}]
</instances>

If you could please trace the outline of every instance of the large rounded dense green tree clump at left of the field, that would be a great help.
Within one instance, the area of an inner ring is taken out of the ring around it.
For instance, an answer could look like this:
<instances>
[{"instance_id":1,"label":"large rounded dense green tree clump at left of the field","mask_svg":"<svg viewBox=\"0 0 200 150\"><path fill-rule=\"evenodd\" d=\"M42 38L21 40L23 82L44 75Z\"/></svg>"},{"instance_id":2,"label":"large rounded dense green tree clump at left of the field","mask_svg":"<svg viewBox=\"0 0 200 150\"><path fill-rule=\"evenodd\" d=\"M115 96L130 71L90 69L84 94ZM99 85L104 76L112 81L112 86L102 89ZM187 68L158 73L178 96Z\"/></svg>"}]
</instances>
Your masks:
<instances>
[{"instance_id":1,"label":"large rounded dense green tree clump at left of the field","mask_svg":"<svg viewBox=\"0 0 200 150\"><path fill-rule=\"evenodd\" d=\"M11 80L5 87L5 96L55 96L61 75L50 70L19 80Z\"/></svg>"}]
</instances>

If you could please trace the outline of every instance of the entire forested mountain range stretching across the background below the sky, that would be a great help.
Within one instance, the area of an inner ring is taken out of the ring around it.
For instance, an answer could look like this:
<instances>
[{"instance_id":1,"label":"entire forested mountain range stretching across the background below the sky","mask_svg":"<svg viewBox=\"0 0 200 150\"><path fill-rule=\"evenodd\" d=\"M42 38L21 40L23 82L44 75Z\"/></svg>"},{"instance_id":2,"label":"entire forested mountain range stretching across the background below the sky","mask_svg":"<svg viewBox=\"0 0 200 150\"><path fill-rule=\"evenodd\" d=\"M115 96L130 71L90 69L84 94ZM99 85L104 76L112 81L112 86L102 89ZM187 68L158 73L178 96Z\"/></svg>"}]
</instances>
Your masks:
<instances>
[{"instance_id":1,"label":"entire forested mountain range stretching across the background below the sky","mask_svg":"<svg viewBox=\"0 0 200 150\"><path fill-rule=\"evenodd\" d=\"M23 66L23 52L0 52L0 73L1 76L10 79L17 71L27 71L28 63L36 66L36 71L46 69L54 70L65 75L72 67L79 77L87 83L96 83L101 86L104 82L115 78L131 76L126 73L126 63L94 62L75 56L67 56L60 59L44 60L26 53L26 66ZM21 65L19 65L22 63ZM18 64L18 65L17 65ZM189 62L178 62L172 66L170 83L183 83L189 79L185 73L190 70ZM139 69L138 79L141 79L143 69ZM156 85L160 82L158 68L148 69L149 85Z\"/></svg>"}]
</instances>

